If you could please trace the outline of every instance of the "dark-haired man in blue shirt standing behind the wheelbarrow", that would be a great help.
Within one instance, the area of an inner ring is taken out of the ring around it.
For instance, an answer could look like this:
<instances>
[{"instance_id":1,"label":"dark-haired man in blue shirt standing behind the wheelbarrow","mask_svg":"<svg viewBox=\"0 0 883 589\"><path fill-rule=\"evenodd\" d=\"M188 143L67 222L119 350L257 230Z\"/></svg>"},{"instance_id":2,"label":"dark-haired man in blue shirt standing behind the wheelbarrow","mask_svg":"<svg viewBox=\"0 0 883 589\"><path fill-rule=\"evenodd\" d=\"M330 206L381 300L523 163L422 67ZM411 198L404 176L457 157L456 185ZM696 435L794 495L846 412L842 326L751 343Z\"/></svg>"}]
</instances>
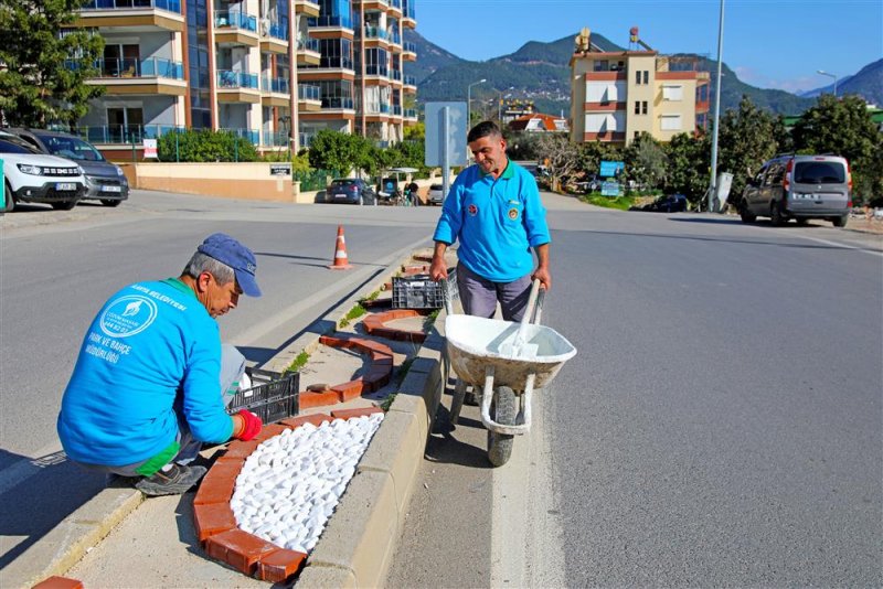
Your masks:
<instances>
[{"instance_id":1,"label":"dark-haired man in blue shirt standing behind the wheelbarrow","mask_svg":"<svg viewBox=\"0 0 883 589\"><path fill-rule=\"evenodd\" d=\"M447 278L445 250L459 239L457 287L466 314L492 318L499 301L504 320L521 321L531 282L552 287L545 208L533 175L507 158L496 124L479 122L467 141L476 163L460 172L445 199L429 275Z\"/></svg>"}]
</instances>

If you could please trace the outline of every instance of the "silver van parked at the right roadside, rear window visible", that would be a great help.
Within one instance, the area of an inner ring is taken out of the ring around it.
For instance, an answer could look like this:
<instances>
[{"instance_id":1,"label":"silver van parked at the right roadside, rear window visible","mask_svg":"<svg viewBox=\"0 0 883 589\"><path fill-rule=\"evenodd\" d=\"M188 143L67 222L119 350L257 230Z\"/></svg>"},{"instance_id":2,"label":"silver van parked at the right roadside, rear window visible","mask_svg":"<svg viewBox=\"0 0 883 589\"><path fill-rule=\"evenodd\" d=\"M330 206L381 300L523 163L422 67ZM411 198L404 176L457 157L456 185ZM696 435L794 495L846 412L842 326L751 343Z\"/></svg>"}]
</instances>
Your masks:
<instances>
[{"instance_id":1,"label":"silver van parked at the right roadside, rear window visible","mask_svg":"<svg viewBox=\"0 0 883 589\"><path fill-rule=\"evenodd\" d=\"M852 208L849 162L839 156L777 156L748 181L736 210L744 223L769 217L774 225L823 218L845 227Z\"/></svg>"}]
</instances>

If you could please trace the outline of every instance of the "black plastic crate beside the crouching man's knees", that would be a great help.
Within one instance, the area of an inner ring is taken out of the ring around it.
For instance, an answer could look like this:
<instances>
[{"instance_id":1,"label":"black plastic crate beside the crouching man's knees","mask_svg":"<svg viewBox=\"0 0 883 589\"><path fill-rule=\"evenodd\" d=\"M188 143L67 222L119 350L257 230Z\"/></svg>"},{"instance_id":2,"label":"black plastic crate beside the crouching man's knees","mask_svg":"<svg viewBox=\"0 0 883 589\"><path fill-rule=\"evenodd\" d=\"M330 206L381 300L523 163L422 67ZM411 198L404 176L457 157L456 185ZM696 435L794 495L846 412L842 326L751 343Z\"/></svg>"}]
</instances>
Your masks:
<instances>
[{"instance_id":1,"label":"black plastic crate beside the crouching man's knees","mask_svg":"<svg viewBox=\"0 0 883 589\"><path fill-rule=\"evenodd\" d=\"M252 388L233 395L227 405L230 415L248 409L265 424L272 424L300 411L300 373L280 374L260 368L245 368L245 373L252 379Z\"/></svg>"}]
</instances>

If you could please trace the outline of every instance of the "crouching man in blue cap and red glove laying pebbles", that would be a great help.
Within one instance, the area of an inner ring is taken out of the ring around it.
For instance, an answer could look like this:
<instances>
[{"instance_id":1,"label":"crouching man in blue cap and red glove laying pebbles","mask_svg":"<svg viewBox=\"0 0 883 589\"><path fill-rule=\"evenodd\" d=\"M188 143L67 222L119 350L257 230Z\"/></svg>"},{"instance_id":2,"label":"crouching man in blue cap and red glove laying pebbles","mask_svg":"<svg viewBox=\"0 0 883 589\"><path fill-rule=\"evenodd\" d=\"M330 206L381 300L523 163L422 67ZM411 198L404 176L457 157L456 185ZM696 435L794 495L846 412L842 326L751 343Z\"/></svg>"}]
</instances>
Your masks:
<instances>
[{"instance_id":1,"label":"crouching man in blue cap and red glove laying pebbles","mask_svg":"<svg viewBox=\"0 0 883 589\"><path fill-rule=\"evenodd\" d=\"M215 318L240 294L259 297L255 257L215 233L178 278L136 282L93 320L62 398L57 430L79 465L136 476L146 495L180 494L204 467L188 465L202 442L249 440L260 418L226 413L222 395L244 358L221 345Z\"/></svg>"}]
</instances>

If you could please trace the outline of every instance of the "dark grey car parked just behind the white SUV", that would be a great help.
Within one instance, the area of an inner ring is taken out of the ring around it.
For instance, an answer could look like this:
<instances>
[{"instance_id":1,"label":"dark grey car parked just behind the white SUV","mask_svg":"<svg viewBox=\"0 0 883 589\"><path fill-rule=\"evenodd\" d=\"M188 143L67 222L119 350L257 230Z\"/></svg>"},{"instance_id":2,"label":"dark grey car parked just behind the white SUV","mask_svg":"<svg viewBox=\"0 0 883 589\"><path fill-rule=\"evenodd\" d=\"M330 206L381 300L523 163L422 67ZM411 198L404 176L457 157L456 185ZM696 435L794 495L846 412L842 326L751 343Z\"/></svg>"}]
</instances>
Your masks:
<instances>
[{"instance_id":1,"label":"dark grey car parked just behind the white SUV","mask_svg":"<svg viewBox=\"0 0 883 589\"><path fill-rule=\"evenodd\" d=\"M123 169L107 161L92 143L74 135L44 129L7 129L43 153L66 158L79 164L86 176L86 192L81 200L97 200L105 206L118 206L129 197L129 182Z\"/></svg>"}]
</instances>

